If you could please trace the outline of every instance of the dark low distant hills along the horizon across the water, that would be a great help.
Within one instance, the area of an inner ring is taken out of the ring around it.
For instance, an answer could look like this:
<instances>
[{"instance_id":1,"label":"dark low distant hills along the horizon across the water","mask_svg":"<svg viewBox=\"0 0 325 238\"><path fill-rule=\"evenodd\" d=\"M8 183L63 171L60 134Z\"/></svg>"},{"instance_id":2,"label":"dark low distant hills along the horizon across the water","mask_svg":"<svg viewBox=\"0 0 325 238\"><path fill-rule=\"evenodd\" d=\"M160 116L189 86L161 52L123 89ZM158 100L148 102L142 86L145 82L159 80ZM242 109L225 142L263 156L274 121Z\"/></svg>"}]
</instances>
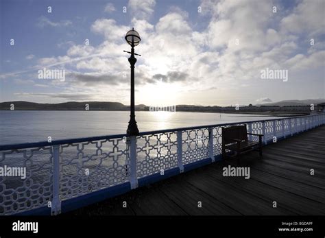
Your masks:
<instances>
[{"instance_id":1,"label":"dark low distant hills along the horizon across the water","mask_svg":"<svg viewBox=\"0 0 325 238\"><path fill-rule=\"evenodd\" d=\"M286 100L267 104L258 104L255 106L239 106L235 108L232 106L196 106L196 105L176 105L178 112L225 112L225 113L267 113L274 115L283 115L287 112L293 114L309 114L311 112L310 105L325 102L325 99L306 99L306 100ZM119 102L64 102L60 104L38 104L36 102L14 101L1 102L0 110L10 110L10 106L14 105L14 110L130 110L130 106L121 104ZM269 108L269 106L277 106L277 108ZM150 106L139 104L135 106L136 110L148 111ZM163 109L159 110L168 110ZM165 106L168 108L168 106ZM320 110L320 108L315 108Z\"/></svg>"}]
</instances>

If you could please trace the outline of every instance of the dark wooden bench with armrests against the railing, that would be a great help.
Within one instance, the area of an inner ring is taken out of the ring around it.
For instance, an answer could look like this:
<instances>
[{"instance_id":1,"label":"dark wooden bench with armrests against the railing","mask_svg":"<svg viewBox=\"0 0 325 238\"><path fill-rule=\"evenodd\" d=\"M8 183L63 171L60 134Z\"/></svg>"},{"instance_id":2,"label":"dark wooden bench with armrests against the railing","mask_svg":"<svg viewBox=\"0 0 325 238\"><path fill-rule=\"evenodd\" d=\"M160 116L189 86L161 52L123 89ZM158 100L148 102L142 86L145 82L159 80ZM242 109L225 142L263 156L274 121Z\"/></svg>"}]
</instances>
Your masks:
<instances>
[{"instance_id":1,"label":"dark wooden bench with armrests against the railing","mask_svg":"<svg viewBox=\"0 0 325 238\"><path fill-rule=\"evenodd\" d=\"M263 158L262 154L262 136L263 134L248 133L246 125L243 126L230 126L228 128L222 128L222 157L226 156L237 157L238 163L240 163L239 155L252 150L258 150L260 158ZM258 136L258 141L249 141L248 134ZM228 155L226 150L234 152L234 155Z\"/></svg>"}]
</instances>

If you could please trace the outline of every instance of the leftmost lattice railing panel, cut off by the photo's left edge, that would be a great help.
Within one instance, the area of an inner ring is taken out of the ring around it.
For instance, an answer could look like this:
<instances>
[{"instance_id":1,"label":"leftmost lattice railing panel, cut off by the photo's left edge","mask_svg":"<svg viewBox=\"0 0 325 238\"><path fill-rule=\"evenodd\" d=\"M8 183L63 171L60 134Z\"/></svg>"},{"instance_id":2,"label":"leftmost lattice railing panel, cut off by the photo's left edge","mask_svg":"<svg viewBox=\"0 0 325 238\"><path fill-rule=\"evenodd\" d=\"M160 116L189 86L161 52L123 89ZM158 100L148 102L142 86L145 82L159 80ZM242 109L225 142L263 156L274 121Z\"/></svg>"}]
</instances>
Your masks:
<instances>
[{"instance_id":1,"label":"leftmost lattice railing panel, cut off by the photo's left edge","mask_svg":"<svg viewBox=\"0 0 325 238\"><path fill-rule=\"evenodd\" d=\"M0 215L47 206L52 198L51 154L51 147L0 152L0 167L12 172L16 169L12 175L19 175L0 176Z\"/></svg>"}]
</instances>

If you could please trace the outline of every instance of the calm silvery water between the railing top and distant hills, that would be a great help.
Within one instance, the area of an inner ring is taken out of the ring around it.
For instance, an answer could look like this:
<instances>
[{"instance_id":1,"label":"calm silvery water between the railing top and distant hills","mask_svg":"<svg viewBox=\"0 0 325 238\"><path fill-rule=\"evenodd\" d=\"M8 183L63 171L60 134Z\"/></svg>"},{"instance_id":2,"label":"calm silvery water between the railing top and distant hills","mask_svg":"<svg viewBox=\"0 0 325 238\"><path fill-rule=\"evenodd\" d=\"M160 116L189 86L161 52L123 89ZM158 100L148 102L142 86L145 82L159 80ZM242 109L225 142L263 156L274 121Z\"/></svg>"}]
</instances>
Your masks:
<instances>
[{"instance_id":1,"label":"calm silvery water between the railing top and distant hills","mask_svg":"<svg viewBox=\"0 0 325 238\"><path fill-rule=\"evenodd\" d=\"M124 134L130 112L121 111L0 111L0 144ZM247 114L202 112L136 112L140 131L205 126L271 119Z\"/></svg>"}]
</instances>

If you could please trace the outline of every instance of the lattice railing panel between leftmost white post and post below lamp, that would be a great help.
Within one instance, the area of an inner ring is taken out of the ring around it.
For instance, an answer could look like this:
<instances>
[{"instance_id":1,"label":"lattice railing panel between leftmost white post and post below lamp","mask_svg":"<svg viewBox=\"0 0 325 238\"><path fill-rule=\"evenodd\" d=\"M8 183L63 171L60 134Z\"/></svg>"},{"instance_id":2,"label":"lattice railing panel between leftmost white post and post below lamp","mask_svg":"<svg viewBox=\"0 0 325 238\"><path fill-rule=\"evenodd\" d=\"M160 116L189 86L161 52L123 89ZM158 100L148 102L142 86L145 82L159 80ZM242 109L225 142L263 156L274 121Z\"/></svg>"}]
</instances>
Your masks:
<instances>
[{"instance_id":1,"label":"lattice railing panel between leftmost white post and post below lamp","mask_svg":"<svg viewBox=\"0 0 325 238\"><path fill-rule=\"evenodd\" d=\"M123 138L71 143L60 147L62 200L128 181Z\"/></svg>"}]
</instances>

